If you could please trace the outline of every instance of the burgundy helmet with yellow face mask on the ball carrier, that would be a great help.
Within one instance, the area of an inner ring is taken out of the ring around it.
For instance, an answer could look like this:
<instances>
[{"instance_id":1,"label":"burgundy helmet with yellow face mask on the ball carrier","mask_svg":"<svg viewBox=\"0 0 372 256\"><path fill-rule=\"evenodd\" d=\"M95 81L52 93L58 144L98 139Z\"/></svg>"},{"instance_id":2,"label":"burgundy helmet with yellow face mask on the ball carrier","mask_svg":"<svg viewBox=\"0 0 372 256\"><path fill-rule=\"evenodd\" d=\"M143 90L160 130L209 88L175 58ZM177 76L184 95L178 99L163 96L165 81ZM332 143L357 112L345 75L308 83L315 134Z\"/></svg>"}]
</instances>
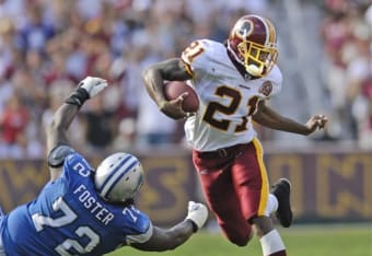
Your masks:
<instances>
[{"instance_id":1,"label":"burgundy helmet with yellow face mask on the ball carrier","mask_svg":"<svg viewBox=\"0 0 372 256\"><path fill-rule=\"evenodd\" d=\"M228 49L251 75L265 77L278 59L276 30L266 18L242 16L230 32Z\"/></svg>"}]
</instances>

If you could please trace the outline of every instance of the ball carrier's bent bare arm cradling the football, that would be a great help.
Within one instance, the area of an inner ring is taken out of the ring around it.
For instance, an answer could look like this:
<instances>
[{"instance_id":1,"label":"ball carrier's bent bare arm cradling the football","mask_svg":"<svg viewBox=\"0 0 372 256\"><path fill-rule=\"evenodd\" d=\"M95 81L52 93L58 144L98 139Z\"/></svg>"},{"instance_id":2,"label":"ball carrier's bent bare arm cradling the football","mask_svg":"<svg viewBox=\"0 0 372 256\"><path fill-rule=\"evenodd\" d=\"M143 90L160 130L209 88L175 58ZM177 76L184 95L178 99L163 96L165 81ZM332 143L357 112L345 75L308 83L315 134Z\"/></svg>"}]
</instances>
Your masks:
<instances>
[{"instance_id":1,"label":"ball carrier's bent bare arm cradling the football","mask_svg":"<svg viewBox=\"0 0 372 256\"><path fill-rule=\"evenodd\" d=\"M161 112L171 118L179 119L186 117L182 109L182 102L187 93L182 94L174 101L166 101L163 92L164 81L185 81L191 79L179 58L159 62L143 71L143 82L151 98L156 103Z\"/></svg>"}]
</instances>

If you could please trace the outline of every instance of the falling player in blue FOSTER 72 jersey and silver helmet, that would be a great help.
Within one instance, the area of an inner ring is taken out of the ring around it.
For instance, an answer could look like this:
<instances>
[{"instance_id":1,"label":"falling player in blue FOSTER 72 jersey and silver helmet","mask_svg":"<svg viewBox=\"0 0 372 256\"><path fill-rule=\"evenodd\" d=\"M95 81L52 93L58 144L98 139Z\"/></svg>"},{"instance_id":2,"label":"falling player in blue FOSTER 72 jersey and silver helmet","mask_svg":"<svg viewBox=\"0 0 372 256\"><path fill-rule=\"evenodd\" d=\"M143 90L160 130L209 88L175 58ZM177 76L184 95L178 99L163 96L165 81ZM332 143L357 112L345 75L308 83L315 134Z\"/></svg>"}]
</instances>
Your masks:
<instances>
[{"instance_id":1,"label":"falling player in blue FOSTER 72 jersey and silver helmet","mask_svg":"<svg viewBox=\"0 0 372 256\"><path fill-rule=\"evenodd\" d=\"M2 255L103 255L125 245L161 252L185 243L206 222L208 210L190 201L184 221L171 229L152 224L133 205L143 171L128 153L106 158L96 170L69 147L66 131L83 103L107 82L88 77L47 128L50 181L31 202L0 210Z\"/></svg>"}]
</instances>

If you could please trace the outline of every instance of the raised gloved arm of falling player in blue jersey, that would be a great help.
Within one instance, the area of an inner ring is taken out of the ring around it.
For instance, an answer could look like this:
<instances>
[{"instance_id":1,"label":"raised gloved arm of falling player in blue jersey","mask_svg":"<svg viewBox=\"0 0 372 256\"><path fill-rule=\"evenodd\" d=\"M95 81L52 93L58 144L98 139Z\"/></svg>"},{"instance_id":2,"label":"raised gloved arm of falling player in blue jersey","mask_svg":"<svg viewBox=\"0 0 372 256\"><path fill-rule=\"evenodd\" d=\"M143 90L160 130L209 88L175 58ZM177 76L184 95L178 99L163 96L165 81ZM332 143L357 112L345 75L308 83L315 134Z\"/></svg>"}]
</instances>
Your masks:
<instances>
[{"instance_id":1,"label":"raised gloved arm of falling player in blue jersey","mask_svg":"<svg viewBox=\"0 0 372 256\"><path fill-rule=\"evenodd\" d=\"M66 154L69 153L68 147L58 150L54 149L56 149L57 146L69 144L67 130L80 107L88 98L95 96L106 86L107 82L101 78L85 78L53 116L53 120L46 129L46 150L51 181L60 176L60 166L63 163Z\"/></svg>"}]
</instances>

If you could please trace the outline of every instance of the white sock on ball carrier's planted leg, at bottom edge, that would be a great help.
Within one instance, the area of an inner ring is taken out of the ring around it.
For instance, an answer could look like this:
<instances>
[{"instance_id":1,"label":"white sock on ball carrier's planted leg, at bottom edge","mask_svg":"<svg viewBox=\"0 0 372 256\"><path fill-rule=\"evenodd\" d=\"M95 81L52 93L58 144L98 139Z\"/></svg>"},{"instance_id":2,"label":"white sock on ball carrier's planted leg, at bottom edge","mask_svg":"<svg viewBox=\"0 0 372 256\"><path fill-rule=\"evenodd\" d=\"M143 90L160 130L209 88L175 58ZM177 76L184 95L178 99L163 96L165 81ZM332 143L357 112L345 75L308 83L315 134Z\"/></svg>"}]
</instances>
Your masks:
<instances>
[{"instance_id":1,"label":"white sock on ball carrier's planted leg, at bottom edge","mask_svg":"<svg viewBox=\"0 0 372 256\"><path fill-rule=\"evenodd\" d=\"M260 246L264 256L286 256L286 246L277 230L271 230L269 233L260 237Z\"/></svg>"}]
</instances>

